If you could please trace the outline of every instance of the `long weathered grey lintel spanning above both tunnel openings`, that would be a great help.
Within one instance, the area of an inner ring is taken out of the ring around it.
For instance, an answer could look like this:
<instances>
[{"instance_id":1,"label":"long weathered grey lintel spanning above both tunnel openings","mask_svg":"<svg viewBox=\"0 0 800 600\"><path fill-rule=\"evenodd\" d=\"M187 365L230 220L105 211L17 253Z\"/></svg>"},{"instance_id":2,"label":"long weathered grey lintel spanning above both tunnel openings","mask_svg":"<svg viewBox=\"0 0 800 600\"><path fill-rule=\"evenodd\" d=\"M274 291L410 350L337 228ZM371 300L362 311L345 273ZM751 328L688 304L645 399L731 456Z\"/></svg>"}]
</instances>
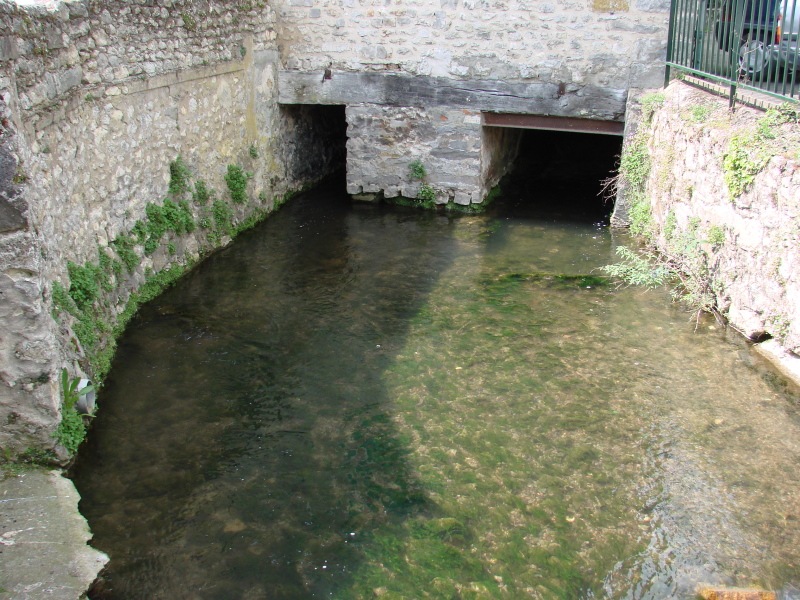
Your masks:
<instances>
[{"instance_id":1,"label":"long weathered grey lintel spanning above both tunnel openings","mask_svg":"<svg viewBox=\"0 0 800 600\"><path fill-rule=\"evenodd\" d=\"M378 104L623 121L627 90L400 73L279 71L281 104Z\"/></svg>"}]
</instances>

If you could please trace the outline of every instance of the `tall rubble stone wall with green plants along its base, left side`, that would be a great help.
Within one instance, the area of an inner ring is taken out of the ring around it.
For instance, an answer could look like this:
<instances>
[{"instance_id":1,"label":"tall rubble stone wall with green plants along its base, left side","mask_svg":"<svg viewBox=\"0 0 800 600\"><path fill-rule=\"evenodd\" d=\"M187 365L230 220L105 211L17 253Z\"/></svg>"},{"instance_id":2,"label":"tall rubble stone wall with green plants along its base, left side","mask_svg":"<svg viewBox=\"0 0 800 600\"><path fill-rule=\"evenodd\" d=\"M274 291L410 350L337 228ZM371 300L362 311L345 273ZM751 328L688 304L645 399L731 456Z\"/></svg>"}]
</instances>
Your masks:
<instances>
[{"instance_id":1,"label":"tall rubble stone wall with green plants along its base, left side","mask_svg":"<svg viewBox=\"0 0 800 600\"><path fill-rule=\"evenodd\" d=\"M279 108L274 23L263 3L225 0L0 2L6 451L52 447L61 369L107 369L111 328L146 282L226 244L343 160L318 114ZM241 168L241 202L229 165ZM170 190L176 168L186 185ZM70 274L94 278L85 306L64 298Z\"/></svg>"}]
</instances>

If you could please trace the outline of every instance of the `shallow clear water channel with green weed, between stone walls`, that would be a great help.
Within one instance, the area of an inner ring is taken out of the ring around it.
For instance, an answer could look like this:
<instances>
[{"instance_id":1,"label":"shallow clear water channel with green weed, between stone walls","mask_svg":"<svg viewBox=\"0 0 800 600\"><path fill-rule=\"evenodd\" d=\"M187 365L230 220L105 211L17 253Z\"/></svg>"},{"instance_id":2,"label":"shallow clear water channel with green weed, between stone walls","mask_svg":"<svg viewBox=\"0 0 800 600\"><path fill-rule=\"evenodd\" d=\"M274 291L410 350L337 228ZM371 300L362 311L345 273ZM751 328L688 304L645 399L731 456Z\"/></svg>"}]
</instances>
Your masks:
<instances>
[{"instance_id":1,"label":"shallow clear water channel with green weed, between stone walls","mask_svg":"<svg viewBox=\"0 0 800 600\"><path fill-rule=\"evenodd\" d=\"M598 279L629 240L574 188L456 216L329 182L143 307L73 473L91 597L800 586L797 398Z\"/></svg>"}]
</instances>

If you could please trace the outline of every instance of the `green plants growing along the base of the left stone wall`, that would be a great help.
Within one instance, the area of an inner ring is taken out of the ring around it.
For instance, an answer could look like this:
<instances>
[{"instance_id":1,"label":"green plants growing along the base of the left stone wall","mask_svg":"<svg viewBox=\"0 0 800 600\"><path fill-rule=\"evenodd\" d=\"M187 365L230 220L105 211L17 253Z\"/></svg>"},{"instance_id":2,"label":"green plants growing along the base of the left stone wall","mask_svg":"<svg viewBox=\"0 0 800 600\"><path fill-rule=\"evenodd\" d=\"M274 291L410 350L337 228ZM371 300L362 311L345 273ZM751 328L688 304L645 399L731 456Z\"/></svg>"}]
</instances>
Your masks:
<instances>
[{"instance_id":1,"label":"green plants growing along the base of the left stone wall","mask_svg":"<svg viewBox=\"0 0 800 600\"><path fill-rule=\"evenodd\" d=\"M229 167L226 183L234 201L246 200L245 188L250 177L251 174L239 167ZM53 318L59 320L65 313L71 315L72 331L86 359L84 368L92 373L97 383L101 383L108 372L116 347L115 338L136 313L139 304L158 295L194 263L184 256L183 264L173 264L158 273L145 270L144 283L126 299L123 284L128 284L129 278L141 269L145 257L158 251L167 256L179 255L181 240L195 232L198 224L204 230L206 251L211 250L223 237L234 237L267 215L266 208L261 207L236 223L234 210L228 202L216 199L214 190L205 182L198 180L192 186L190 180L191 173L179 156L170 164L170 197L161 204L148 203L145 218L136 221L130 231L117 235L107 249L99 248L96 262L87 261L81 265L70 261L67 285L58 281L52 284ZM187 195L191 195L198 207L197 220ZM276 197L273 209L291 195ZM262 192L259 199L266 203L266 194ZM209 202L210 209L206 208ZM120 304L125 308L117 315L114 307Z\"/></svg>"}]
</instances>

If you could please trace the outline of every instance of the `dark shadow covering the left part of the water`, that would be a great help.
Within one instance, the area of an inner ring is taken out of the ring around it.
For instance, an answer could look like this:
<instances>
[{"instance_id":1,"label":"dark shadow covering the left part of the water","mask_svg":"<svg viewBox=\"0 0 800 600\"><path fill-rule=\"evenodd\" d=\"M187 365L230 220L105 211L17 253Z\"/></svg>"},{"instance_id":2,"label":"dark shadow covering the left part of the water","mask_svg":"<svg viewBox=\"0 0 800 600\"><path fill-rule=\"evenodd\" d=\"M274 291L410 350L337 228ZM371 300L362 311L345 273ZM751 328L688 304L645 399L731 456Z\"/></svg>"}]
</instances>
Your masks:
<instances>
[{"instance_id":1,"label":"dark shadow covering the left part of the water","mask_svg":"<svg viewBox=\"0 0 800 600\"><path fill-rule=\"evenodd\" d=\"M92 598L328 595L372 529L435 513L381 375L451 223L318 188L142 307L74 469Z\"/></svg>"}]
</instances>

